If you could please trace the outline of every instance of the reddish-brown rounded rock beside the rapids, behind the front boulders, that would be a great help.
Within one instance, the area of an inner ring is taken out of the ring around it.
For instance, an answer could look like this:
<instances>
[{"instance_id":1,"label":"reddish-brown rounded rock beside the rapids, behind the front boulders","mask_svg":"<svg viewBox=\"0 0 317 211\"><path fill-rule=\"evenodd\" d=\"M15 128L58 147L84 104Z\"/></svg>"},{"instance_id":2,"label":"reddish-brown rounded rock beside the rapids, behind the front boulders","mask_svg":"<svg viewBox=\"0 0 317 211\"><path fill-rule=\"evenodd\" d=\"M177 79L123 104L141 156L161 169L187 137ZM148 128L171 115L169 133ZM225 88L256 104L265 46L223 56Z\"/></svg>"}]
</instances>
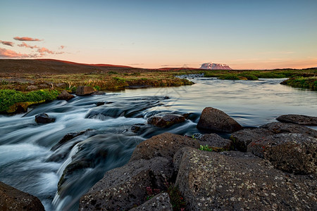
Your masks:
<instances>
[{"instance_id":1,"label":"reddish-brown rounded rock beside the rapids, behind the front boulders","mask_svg":"<svg viewBox=\"0 0 317 211\"><path fill-rule=\"evenodd\" d=\"M170 133L159 134L139 143L132 153L130 162L139 159L149 160L155 157L173 160L174 154L185 146L199 148L200 144L199 141L185 136Z\"/></svg>"}]
</instances>

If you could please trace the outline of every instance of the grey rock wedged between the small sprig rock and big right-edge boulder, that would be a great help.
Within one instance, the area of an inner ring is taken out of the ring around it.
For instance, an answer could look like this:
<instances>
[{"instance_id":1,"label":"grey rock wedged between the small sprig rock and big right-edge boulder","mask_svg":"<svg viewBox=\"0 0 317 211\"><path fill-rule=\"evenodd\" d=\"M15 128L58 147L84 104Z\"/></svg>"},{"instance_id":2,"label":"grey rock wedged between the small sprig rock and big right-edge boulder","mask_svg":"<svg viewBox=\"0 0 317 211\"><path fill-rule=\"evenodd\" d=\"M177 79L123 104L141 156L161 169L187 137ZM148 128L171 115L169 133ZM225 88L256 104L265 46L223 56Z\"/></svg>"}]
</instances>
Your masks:
<instances>
[{"instance_id":1,"label":"grey rock wedged between the small sprig rock and big right-edge boulder","mask_svg":"<svg viewBox=\"0 0 317 211\"><path fill-rule=\"evenodd\" d=\"M232 133L230 139L238 151L247 152L247 146L251 141L256 141L272 134L274 133L264 128L242 129Z\"/></svg>"}]
</instances>

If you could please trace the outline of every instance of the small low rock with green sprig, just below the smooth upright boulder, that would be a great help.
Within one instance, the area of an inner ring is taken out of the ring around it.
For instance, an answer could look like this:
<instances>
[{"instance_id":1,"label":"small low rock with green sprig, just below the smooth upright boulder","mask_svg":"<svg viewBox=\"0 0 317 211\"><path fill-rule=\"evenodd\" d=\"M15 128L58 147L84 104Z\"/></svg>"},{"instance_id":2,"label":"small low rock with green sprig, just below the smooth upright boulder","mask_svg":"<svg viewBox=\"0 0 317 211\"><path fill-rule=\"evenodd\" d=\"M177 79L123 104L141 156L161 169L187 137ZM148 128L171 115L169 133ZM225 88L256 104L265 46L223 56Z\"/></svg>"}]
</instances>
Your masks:
<instances>
[{"instance_id":1,"label":"small low rock with green sprig, just below the smooth upright boulder","mask_svg":"<svg viewBox=\"0 0 317 211\"><path fill-rule=\"evenodd\" d=\"M198 140L202 146L208 145L213 151L230 151L233 148L232 141L217 134L204 134Z\"/></svg>"}]
</instances>

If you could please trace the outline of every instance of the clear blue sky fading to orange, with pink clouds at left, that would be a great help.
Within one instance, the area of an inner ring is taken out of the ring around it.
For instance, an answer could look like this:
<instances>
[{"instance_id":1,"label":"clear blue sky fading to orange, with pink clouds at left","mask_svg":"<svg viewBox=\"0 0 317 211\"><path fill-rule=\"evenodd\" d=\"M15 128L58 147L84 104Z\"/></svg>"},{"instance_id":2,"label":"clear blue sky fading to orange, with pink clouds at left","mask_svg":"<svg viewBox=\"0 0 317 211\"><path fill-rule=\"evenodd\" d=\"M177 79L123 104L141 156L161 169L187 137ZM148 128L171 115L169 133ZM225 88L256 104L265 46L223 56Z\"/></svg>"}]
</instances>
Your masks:
<instances>
[{"instance_id":1,"label":"clear blue sky fading to orange, with pink clouds at left","mask_svg":"<svg viewBox=\"0 0 317 211\"><path fill-rule=\"evenodd\" d=\"M317 67L316 0L0 0L0 58Z\"/></svg>"}]
</instances>

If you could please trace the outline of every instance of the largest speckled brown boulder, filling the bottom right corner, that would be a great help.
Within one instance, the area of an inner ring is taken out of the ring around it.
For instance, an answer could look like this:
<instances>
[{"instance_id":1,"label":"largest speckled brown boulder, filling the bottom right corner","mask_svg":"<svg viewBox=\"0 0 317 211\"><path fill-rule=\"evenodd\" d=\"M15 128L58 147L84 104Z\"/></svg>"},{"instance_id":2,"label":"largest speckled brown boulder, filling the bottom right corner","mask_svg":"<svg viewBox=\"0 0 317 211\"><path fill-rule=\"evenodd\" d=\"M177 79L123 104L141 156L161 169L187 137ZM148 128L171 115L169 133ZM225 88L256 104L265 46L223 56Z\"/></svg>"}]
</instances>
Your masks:
<instances>
[{"instance_id":1,"label":"largest speckled brown boulder, filling the bottom right corner","mask_svg":"<svg viewBox=\"0 0 317 211\"><path fill-rule=\"evenodd\" d=\"M188 148L175 185L187 210L317 210L316 181L275 170L250 153Z\"/></svg>"}]
</instances>

